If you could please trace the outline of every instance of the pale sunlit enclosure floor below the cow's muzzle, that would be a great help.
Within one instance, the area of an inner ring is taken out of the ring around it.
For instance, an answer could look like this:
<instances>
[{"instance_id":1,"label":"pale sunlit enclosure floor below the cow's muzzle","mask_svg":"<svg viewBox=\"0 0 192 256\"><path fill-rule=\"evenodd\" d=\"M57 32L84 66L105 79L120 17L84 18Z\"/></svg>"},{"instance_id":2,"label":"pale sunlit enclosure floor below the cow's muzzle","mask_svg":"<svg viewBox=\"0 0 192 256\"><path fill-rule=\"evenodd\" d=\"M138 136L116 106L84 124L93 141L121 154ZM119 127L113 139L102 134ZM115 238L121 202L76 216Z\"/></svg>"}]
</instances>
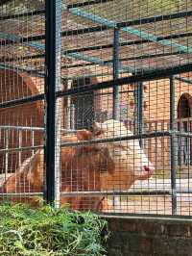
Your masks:
<instances>
[{"instance_id":1,"label":"pale sunlit enclosure floor below the cow's muzzle","mask_svg":"<svg viewBox=\"0 0 192 256\"><path fill-rule=\"evenodd\" d=\"M186 193L192 188L192 179L177 179L177 189L184 190L185 193L177 194L177 215L192 215L192 192ZM172 196L170 194L157 194L156 191L171 192L170 179L153 179L148 181L137 181L129 192L154 192L151 195L128 195L116 196L115 201L109 200L109 204L114 203L115 213L129 214L152 214L171 215Z\"/></svg>"}]
</instances>

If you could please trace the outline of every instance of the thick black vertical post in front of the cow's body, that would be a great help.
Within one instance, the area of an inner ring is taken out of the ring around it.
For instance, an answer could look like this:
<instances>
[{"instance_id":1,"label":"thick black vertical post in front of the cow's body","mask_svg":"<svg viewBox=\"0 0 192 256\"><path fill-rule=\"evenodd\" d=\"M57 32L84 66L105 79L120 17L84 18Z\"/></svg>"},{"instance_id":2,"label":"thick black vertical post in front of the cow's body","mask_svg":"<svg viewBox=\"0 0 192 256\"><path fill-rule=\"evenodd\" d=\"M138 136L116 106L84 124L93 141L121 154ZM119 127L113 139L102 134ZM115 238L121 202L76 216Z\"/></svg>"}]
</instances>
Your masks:
<instances>
[{"instance_id":1,"label":"thick black vertical post in front of the cow's body","mask_svg":"<svg viewBox=\"0 0 192 256\"><path fill-rule=\"evenodd\" d=\"M56 150L56 84L57 84L57 5L60 0L45 2L45 147L44 162L46 183L44 197L46 202L55 202L55 150Z\"/></svg>"}]
</instances>

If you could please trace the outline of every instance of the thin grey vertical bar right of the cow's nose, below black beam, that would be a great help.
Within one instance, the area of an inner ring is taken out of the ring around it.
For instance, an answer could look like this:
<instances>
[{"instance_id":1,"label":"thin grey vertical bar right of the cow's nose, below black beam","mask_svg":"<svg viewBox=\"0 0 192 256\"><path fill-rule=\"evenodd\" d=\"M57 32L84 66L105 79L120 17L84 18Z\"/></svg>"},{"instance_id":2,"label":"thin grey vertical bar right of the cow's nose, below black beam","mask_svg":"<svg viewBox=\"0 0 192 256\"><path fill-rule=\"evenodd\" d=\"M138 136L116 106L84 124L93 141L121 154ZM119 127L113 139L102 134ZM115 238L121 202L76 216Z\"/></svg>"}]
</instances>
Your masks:
<instances>
[{"instance_id":1,"label":"thin grey vertical bar right of the cow's nose, below black beam","mask_svg":"<svg viewBox=\"0 0 192 256\"><path fill-rule=\"evenodd\" d=\"M175 77L170 78L170 130L171 134L171 187L172 187L172 215L177 214L177 185L176 185L176 154L177 138L175 127Z\"/></svg>"}]
</instances>

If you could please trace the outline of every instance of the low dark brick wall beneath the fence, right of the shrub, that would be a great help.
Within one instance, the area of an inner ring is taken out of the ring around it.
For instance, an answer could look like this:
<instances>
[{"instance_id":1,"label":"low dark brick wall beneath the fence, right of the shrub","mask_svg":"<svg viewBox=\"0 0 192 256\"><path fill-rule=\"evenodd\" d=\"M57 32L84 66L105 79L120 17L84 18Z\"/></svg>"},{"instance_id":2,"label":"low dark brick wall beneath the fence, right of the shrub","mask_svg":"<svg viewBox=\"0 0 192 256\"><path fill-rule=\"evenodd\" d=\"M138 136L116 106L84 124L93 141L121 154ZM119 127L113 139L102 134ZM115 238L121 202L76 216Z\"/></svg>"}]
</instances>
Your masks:
<instances>
[{"instance_id":1,"label":"low dark brick wall beneath the fence, right of the shrub","mask_svg":"<svg viewBox=\"0 0 192 256\"><path fill-rule=\"evenodd\" d=\"M109 217L108 256L191 256L192 221Z\"/></svg>"}]
</instances>

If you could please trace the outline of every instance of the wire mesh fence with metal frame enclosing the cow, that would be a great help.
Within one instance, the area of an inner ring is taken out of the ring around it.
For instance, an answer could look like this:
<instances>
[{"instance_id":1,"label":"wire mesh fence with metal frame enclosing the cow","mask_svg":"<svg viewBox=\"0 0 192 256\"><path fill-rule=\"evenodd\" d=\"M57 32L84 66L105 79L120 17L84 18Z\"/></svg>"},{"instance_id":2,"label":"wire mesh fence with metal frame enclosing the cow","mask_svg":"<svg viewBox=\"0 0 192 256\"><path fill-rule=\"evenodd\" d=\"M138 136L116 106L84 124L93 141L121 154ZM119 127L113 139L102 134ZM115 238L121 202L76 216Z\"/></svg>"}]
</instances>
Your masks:
<instances>
[{"instance_id":1,"label":"wire mesh fence with metal frame enclosing the cow","mask_svg":"<svg viewBox=\"0 0 192 256\"><path fill-rule=\"evenodd\" d=\"M191 216L191 15L187 0L0 2L0 198Z\"/></svg>"}]
</instances>

